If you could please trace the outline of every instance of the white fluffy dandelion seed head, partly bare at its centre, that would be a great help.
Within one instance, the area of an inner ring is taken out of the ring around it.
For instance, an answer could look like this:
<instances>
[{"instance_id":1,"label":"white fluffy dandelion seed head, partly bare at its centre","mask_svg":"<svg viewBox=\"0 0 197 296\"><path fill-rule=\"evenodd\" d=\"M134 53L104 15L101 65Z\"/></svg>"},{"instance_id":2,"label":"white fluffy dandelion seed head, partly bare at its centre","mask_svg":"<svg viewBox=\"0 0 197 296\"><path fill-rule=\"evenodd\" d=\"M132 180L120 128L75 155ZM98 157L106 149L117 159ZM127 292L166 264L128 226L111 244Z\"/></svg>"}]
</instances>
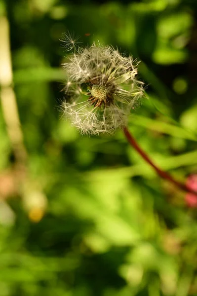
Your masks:
<instances>
[{"instance_id":1,"label":"white fluffy dandelion seed head, partly bare at its centre","mask_svg":"<svg viewBox=\"0 0 197 296\"><path fill-rule=\"evenodd\" d=\"M75 51L63 68L69 80L62 109L82 134L113 133L126 125L143 94L132 57L93 43Z\"/></svg>"}]
</instances>

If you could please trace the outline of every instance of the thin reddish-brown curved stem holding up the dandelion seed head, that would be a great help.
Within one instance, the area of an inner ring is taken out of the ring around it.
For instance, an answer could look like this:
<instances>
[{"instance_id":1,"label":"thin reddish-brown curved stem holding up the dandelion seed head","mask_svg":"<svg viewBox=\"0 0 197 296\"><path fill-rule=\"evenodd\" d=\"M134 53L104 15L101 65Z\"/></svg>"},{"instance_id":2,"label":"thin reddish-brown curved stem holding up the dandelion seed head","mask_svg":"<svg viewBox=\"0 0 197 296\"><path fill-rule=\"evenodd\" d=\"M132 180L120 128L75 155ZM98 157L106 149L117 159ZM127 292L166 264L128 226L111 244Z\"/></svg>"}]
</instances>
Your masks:
<instances>
[{"instance_id":1,"label":"thin reddish-brown curved stem holding up the dandelion seed head","mask_svg":"<svg viewBox=\"0 0 197 296\"><path fill-rule=\"evenodd\" d=\"M188 185L185 185L185 184L175 180L170 174L168 174L165 171L159 169L158 166L149 158L149 156L146 154L146 152L143 151L142 148L140 148L140 146L138 145L136 140L133 138L131 133L128 131L127 127L123 128L123 132L124 132L124 135L126 136L128 142L130 143L130 145L142 156L142 158L144 158L144 160L146 162L148 162L155 169L155 171L158 173L158 175L161 178L166 179L169 182L176 185L177 187L179 187L180 189L182 189L182 190L184 190L186 192L190 192L192 194L195 194L197 196L197 192L194 191L193 189L191 189Z\"/></svg>"}]
</instances>

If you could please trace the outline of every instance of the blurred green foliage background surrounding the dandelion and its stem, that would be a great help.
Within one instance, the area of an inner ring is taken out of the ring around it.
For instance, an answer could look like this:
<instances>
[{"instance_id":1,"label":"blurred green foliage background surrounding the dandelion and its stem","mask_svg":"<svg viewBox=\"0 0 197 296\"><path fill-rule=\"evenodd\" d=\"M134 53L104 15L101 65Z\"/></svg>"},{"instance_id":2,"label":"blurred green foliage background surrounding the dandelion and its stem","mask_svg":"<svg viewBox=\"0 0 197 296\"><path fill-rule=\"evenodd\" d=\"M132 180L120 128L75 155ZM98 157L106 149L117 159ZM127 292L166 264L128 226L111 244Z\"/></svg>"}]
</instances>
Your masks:
<instances>
[{"instance_id":1,"label":"blurred green foliage background surrounding the dandelion and its stem","mask_svg":"<svg viewBox=\"0 0 197 296\"><path fill-rule=\"evenodd\" d=\"M197 172L197 1L0 0L0 24L0 296L196 296L185 193L121 131L81 136L58 109L62 33L117 46L148 85L135 138L180 181Z\"/></svg>"}]
</instances>

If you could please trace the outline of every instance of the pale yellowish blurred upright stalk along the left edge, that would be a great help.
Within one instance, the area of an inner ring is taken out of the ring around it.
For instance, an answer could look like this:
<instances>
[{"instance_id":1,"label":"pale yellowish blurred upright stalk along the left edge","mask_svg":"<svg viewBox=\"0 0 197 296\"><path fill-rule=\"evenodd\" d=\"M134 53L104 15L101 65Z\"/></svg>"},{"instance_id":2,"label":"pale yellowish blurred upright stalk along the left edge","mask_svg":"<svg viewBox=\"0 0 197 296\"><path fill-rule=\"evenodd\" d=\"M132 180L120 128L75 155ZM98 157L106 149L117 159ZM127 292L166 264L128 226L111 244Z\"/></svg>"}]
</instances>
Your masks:
<instances>
[{"instance_id":1,"label":"pale yellowish blurred upright stalk along the left edge","mask_svg":"<svg viewBox=\"0 0 197 296\"><path fill-rule=\"evenodd\" d=\"M27 151L23 144L23 133L18 115L16 96L13 90L13 74L9 44L9 23L0 16L0 100L7 133L18 163L27 160Z\"/></svg>"}]
</instances>

